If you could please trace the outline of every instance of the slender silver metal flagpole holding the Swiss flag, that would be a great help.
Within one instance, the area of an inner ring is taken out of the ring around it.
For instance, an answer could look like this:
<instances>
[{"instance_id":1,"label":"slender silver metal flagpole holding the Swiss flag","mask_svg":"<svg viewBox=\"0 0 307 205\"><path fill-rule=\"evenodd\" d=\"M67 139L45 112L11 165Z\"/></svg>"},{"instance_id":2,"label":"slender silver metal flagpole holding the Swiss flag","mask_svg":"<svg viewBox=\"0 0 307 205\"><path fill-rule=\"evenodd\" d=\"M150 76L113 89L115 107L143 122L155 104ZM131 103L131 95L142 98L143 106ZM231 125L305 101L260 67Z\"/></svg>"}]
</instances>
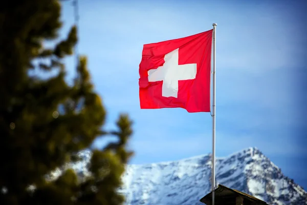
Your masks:
<instances>
[{"instance_id":1,"label":"slender silver metal flagpole holding the Swiss flag","mask_svg":"<svg viewBox=\"0 0 307 205\"><path fill-rule=\"evenodd\" d=\"M216 26L213 26L213 69L212 69L212 171L211 171L211 189L212 189L212 205L214 205L214 190L215 190L215 37Z\"/></svg>"}]
</instances>

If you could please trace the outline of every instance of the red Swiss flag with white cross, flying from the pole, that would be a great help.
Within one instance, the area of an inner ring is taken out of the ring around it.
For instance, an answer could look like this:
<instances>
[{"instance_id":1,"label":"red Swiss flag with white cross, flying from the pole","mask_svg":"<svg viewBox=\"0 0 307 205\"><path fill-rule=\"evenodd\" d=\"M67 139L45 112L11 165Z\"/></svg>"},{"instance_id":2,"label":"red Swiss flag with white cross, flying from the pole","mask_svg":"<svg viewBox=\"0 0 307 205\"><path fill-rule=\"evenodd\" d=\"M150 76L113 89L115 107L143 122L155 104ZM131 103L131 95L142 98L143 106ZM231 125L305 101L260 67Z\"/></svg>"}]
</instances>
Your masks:
<instances>
[{"instance_id":1,"label":"red Swiss flag with white cross, flying from the pole","mask_svg":"<svg viewBox=\"0 0 307 205\"><path fill-rule=\"evenodd\" d=\"M212 31L144 45L139 69L141 109L210 112Z\"/></svg>"}]
</instances>

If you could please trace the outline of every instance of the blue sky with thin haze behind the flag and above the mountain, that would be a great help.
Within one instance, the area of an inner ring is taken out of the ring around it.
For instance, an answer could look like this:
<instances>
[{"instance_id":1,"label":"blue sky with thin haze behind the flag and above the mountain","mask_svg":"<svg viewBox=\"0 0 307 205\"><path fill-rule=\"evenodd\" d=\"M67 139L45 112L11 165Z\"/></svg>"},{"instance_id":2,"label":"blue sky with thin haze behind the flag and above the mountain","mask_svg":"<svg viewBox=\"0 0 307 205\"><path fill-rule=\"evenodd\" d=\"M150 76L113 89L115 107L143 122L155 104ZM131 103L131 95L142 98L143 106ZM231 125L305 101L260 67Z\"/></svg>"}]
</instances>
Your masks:
<instances>
[{"instance_id":1,"label":"blue sky with thin haze behind the flag and above the mountain","mask_svg":"<svg viewBox=\"0 0 307 205\"><path fill-rule=\"evenodd\" d=\"M305 1L79 0L79 52L89 58L107 109L134 120L130 163L177 160L211 152L211 116L183 109L141 110L143 44L212 29L216 33L216 156L257 147L307 188ZM65 35L74 23L63 3ZM68 77L74 59L67 59ZM102 147L103 138L94 147Z\"/></svg>"}]
</instances>

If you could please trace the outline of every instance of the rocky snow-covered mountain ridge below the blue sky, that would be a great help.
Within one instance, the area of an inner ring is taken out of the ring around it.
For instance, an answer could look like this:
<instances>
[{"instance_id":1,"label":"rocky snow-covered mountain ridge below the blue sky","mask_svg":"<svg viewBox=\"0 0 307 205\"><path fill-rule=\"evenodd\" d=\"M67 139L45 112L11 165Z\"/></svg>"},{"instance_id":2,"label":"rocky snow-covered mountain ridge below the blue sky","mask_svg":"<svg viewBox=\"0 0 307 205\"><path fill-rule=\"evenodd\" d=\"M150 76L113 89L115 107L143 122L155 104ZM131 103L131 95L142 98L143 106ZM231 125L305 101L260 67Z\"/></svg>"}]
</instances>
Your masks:
<instances>
[{"instance_id":1,"label":"rocky snow-covered mountain ridge below the blue sky","mask_svg":"<svg viewBox=\"0 0 307 205\"><path fill-rule=\"evenodd\" d=\"M86 175L91 153L80 153L84 161L72 165ZM56 172L55 172L56 174ZM149 165L127 165L120 189L127 205L191 205L210 192L211 155L201 155ZM307 193L284 176L269 158L248 148L216 159L216 184L251 194L269 204L307 204Z\"/></svg>"}]
</instances>

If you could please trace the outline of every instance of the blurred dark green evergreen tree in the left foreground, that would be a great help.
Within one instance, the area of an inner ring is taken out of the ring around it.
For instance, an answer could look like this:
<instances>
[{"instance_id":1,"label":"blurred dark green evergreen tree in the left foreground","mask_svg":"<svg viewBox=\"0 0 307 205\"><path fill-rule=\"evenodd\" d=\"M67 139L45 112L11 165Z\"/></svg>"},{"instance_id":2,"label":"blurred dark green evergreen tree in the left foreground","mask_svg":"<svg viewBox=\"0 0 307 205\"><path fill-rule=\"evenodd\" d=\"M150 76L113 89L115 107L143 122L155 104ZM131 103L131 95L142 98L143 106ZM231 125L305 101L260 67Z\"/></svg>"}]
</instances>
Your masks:
<instances>
[{"instance_id":1,"label":"blurred dark green evergreen tree in the left foreground","mask_svg":"<svg viewBox=\"0 0 307 205\"><path fill-rule=\"evenodd\" d=\"M58 0L9 1L0 7L0 204L118 205L124 201L117 189L131 155L125 147L131 121L121 115L117 131L101 130L106 111L86 57L79 58L73 85L65 81L62 62L73 54L77 28L58 39L60 11ZM45 47L51 40L55 46ZM37 70L53 75L42 77ZM80 181L67 170L46 179L106 134L119 140L93 151L90 177Z\"/></svg>"}]
</instances>

